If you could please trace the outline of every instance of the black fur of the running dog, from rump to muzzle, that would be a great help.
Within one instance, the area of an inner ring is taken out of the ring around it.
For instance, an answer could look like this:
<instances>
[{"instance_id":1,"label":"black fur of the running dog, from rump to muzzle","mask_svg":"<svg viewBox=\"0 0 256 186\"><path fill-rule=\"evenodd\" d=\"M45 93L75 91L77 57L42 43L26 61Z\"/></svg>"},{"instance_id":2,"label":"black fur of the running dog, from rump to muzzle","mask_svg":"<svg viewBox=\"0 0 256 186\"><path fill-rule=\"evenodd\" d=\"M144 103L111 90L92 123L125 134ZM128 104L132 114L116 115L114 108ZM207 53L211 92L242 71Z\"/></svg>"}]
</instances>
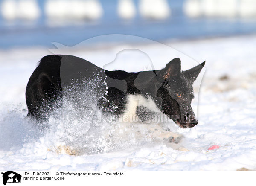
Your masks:
<instances>
[{"instance_id":1,"label":"black fur of the running dog, from rump to muzzle","mask_svg":"<svg viewBox=\"0 0 256 186\"><path fill-rule=\"evenodd\" d=\"M104 70L71 55L48 55L41 59L26 87L28 116L47 119L61 107L65 88L79 89L86 86L83 82L96 80L93 93L103 113L121 115L129 104L128 96L140 95L153 100L181 128L194 127L198 122L191 108L192 84L204 64L180 72L180 59L175 58L162 70L128 73Z\"/></svg>"}]
</instances>

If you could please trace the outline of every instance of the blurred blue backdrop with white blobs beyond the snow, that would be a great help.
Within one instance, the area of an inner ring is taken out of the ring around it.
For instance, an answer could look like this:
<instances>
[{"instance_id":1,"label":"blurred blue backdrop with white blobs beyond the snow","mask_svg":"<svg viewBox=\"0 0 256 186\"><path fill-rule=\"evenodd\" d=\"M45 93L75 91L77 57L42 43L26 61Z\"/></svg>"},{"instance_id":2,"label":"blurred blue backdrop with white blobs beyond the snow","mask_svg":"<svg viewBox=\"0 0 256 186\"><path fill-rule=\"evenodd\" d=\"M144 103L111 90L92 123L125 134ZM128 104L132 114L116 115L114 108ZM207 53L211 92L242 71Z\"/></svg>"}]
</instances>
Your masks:
<instances>
[{"instance_id":1,"label":"blurred blue backdrop with white blobs beyond the snow","mask_svg":"<svg viewBox=\"0 0 256 186\"><path fill-rule=\"evenodd\" d=\"M176 41L255 32L256 0L0 0L2 49L105 34Z\"/></svg>"}]
</instances>

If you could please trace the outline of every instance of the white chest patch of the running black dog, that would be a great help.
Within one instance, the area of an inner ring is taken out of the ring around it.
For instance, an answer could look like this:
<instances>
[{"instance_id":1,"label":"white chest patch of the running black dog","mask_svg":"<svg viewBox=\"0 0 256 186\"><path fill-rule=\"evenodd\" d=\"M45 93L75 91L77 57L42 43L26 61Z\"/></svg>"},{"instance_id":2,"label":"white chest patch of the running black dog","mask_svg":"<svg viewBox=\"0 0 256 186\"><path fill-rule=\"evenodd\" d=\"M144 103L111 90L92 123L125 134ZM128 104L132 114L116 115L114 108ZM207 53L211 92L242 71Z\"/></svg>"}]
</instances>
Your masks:
<instances>
[{"instance_id":1,"label":"white chest patch of the running black dog","mask_svg":"<svg viewBox=\"0 0 256 186\"><path fill-rule=\"evenodd\" d=\"M123 115L135 116L138 106L143 106L153 112L160 112L160 110L157 108L157 105L151 98L146 99L144 96L141 96L138 94L136 95L129 94L127 96L126 108Z\"/></svg>"}]
</instances>

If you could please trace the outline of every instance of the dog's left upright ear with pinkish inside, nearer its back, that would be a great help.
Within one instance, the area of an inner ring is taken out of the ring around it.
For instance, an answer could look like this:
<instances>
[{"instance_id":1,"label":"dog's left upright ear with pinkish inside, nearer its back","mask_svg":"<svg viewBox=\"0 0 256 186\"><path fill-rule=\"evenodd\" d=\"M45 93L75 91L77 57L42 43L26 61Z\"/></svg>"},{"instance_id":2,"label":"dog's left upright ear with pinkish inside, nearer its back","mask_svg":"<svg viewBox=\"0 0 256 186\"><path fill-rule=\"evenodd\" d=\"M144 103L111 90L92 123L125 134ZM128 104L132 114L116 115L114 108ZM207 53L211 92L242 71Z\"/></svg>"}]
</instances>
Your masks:
<instances>
[{"instance_id":1,"label":"dog's left upright ear with pinkish inside, nearer its back","mask_svg":"<svg viewBox=\"0 0 256 186\"><path fill-rule=\"evenodd\" d=\"M175 58L166 64L166 67L160 70L160 78L167 79L171 76L178 76L180 74L180 58Z\"/></svg>"}]
</instances>

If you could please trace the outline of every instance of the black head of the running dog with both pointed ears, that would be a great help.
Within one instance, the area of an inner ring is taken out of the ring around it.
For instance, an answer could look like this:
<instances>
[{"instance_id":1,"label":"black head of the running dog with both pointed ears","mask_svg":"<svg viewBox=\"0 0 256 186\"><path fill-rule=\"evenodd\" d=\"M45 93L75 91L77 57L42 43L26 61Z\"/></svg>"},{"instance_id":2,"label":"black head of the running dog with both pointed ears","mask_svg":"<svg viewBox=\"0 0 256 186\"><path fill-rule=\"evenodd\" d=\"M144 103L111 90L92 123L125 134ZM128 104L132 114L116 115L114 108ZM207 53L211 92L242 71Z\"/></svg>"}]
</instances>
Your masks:
<instances>
[{"instance_id":1,"label":"black head of the running dog with both pointed ears","mask_svg":"<svg viewBox=\"0 0 256 186\"><path fill-rule=\"evenodd\" d=\"M191 128L198 124L191 102L194 98L192 84L204 67L205 61L192 69L180 72L180 59L175 58L157 73L162 98L162 110L179 127Z\"/></svg>"}]
</instances>

